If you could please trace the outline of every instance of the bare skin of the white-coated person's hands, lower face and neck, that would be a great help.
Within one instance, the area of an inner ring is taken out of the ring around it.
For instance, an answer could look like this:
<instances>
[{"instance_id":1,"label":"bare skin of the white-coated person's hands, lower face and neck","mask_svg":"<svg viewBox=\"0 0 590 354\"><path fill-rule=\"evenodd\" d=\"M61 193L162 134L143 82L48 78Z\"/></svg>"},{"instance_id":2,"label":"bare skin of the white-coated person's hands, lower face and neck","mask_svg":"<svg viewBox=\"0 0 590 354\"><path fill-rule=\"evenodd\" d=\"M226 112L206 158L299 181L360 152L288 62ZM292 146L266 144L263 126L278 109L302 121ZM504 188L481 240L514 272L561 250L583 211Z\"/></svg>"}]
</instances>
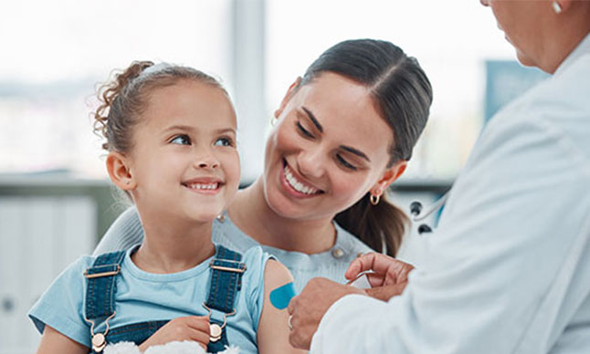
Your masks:
<instances>
[{"instance_id":1,"label":"bare skin of the white-coated person's hands, lower face and neck","mask_svg":"<svg viewBox=\"0 0 590 354\"><path fill-rule=\"evenodd\" d=\"M580 41L590 33L590 2L559 0L562 13L555 14L550 1L480 0L490 6L504 31L506 38L516 48L523 65L534 66L553 73ZM388 299L403 292L411 265L385 255L370 255L351 264L347 276L372 270L372 284L380 282L370 294ZM293 317L290 343L300 349L309 349L311 338L328 308L341 297L358 294L327 279L312 279L300 296L294 297L289 306Z\"/></svg>"}]
</instances>

